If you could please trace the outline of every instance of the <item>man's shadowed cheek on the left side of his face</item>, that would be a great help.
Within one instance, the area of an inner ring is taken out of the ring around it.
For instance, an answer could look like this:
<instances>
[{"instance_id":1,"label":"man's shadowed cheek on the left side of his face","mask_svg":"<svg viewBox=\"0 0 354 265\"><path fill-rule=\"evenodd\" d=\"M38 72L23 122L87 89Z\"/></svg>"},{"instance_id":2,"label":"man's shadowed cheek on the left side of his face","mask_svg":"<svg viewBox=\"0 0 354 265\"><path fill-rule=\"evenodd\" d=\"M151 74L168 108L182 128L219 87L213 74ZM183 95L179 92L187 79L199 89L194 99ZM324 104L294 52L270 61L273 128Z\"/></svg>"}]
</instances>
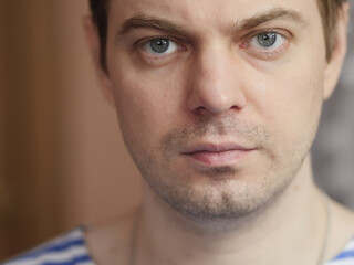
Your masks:
<instances>
[{"instance_id":1,"label":"man's shadowed cheek on the left side of his face","mask_svg":"<svg viewBox=\"0 0 354 265\"><path fill-rule=\"evenodd\" d=\"M127 137L143 145L158 145L176 126L183 97L178 74L137 71L136 67L114 70L112 85L122 129Z\"/></svg>"}]
</instances>

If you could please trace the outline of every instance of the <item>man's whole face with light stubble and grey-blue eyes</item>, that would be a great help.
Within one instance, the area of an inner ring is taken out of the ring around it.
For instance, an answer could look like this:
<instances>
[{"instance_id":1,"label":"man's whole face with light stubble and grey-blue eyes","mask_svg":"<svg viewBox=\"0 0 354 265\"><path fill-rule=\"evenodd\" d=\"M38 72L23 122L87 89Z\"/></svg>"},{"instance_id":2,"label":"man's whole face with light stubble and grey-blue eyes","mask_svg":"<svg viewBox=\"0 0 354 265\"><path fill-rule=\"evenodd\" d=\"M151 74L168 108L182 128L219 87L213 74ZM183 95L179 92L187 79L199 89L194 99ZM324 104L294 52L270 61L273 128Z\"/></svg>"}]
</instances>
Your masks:
<instances>
[{"instance_id":1,"label":"man's whole face with light stubble and grey-blue eyes","mask_svg":"<svg viewBox=\"0 0 354 265\"><path fill-rule=\"evenodd\" d=\"M162 199L229 219L285 189L330 93L315 0L112 0L108 18L107 86Z\"/></svg>"}]
</instances>

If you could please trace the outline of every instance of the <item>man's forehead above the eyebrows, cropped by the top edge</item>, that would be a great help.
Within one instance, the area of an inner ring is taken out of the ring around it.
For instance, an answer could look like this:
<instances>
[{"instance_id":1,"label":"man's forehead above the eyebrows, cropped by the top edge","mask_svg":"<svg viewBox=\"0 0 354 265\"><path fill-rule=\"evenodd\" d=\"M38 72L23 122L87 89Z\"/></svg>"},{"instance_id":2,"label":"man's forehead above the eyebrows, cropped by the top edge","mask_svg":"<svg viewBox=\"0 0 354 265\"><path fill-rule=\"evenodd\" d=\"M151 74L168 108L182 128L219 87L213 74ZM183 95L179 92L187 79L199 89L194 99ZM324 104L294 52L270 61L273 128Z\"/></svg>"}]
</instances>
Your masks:
<instances>
[{"instance_id":1,"label":"man's forehead above the eyebrows, cropped by the top edge","mask_svg":"<svg viewBox=\"0 0 354 265\"><path fill-rule=\"evenodd\" d=\"M208 29L279 8L296 11L306 21L320 24L316 0L111 0L108 18L114 25L135 15L152 15L185 28Z\"/></svg>"}]
</instances>

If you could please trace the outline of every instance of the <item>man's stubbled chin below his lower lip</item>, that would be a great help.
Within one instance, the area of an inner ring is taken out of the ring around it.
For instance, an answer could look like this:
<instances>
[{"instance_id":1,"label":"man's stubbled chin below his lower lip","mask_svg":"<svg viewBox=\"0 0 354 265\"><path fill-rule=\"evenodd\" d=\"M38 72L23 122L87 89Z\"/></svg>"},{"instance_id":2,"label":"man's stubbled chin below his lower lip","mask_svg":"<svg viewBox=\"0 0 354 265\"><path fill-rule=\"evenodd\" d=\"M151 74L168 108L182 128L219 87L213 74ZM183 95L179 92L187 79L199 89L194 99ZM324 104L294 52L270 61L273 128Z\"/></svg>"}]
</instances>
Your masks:
<instances>
[{"instance_id":1,"label":"man's stubbled chin below his lower lip","mask_svg":"<svg viewBox=\"0 0 354 265\"><path fill-rule=\"evenodd\" d=\"M147 182L160 200L197 222L232 221L251 215L271 204L291 182L291 179L277 182L264 176L253 179L236 177L229 171L222 173L212 176L212 181L210 176L189 176L185 181L165 178L164 181L147 179Z\"/></svg>"}]
</instances>

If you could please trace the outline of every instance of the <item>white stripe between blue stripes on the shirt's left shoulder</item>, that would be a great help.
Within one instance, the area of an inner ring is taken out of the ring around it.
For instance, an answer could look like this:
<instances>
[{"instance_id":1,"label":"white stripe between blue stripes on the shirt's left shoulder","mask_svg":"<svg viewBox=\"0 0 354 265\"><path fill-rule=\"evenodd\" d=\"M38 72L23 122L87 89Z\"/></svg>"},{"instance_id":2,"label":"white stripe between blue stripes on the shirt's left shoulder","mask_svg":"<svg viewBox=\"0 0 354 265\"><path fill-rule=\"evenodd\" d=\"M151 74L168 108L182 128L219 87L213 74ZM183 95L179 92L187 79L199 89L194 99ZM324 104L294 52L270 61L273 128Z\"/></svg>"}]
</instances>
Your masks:
<instances>
[{"instance_id":1,"label":"white stripe between blue stripes on the shirt's left shoulder","mask_svg":"<svg viewBox=\"0 0 354 265\"><path fill-rule=\"evenodd\" d=\"M84 246L75 246L65 250L65 252L52 252L52 253L44 253L38 257L28 257L21 258L13 262L4 263L3 265L38 265L43 264L44 262L50 263L61 263L67 262L75 257L85 256L87 255L87 250Z\"/></svg>"}]
</instances>

